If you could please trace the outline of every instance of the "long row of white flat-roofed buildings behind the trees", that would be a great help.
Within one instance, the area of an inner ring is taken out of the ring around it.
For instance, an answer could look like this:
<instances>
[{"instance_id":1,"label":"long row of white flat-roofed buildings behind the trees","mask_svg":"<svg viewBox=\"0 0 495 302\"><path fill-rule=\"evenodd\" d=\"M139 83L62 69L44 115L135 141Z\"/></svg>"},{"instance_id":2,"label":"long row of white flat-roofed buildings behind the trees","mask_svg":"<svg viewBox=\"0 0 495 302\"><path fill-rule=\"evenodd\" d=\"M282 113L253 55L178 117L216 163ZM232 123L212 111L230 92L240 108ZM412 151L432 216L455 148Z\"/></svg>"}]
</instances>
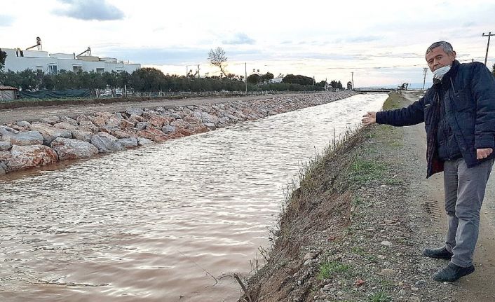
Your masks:
<instances>
[{"instance_id":1,"label":"long row of white flat-roofed buildings behind the trees","mask_svg":"<svg viewBox=\"0 0 495 302\"><path fill-rule=\"evenodd\" d=\"M1 48L7 53L4 70L43 71L45 74L56 74L62 69L66 71L127 71L132 73L141 68L141 64L130 64L118 61L113 57L95 57L91 55L50 53L43 50L15 50L12 48Z\"/></svg>"}]
</instances>

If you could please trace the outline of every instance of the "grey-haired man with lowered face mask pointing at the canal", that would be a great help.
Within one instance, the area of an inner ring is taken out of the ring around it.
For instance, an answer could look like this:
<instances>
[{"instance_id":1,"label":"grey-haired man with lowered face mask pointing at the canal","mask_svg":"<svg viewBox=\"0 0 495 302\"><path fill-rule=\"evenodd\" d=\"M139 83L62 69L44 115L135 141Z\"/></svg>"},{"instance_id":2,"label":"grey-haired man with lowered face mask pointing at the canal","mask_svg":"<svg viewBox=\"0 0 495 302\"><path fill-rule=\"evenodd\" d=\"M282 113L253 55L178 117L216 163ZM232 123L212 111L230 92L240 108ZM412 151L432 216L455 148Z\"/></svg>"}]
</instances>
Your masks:
<instances>
[{"instance_id":1,"label":"grey-haired man with lowered face mask pointing at the canal","mask_svg":"<svg viewBox=\"0 0 495 302\"><path fill-rule=\"evenodd\" d=\"M433 71L433 86L419 101L393 111L368 112L362 122L425 122L426 177L444 172L448 230L443 247L424 249L423 254L449 259L433 279L453 282L475 270L480 209L495 158L495 78L479 62L460 64L445 41L426 50L426 62Z\"/></svg>"}]
</instances>

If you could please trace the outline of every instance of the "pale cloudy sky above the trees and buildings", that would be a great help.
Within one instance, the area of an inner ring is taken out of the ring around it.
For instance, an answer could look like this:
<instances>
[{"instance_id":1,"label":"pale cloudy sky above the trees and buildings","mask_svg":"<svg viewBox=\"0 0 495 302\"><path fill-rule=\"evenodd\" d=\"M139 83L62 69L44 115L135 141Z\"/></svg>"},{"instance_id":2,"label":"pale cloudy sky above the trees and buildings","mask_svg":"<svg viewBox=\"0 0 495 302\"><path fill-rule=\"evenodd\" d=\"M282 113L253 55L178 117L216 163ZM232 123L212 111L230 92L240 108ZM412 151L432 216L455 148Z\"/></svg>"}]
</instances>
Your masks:
<instances>
[{"instance_id":1,"label":"pale cloudy sky above the trees and buildings","mask_svg":"<svg viewBox=\"0 0 495 302\"><path fill-rule=\"evenodd\" d=\"M422 83L424 52L450 41L461 62L484 62L495 1L8 1L0 48L40 36L49 53L116 57L185 74L218 74L208 51L224 48L228 71L304 74L355 86ZM368 4L369 3L369 4ZM489 66L495 63L495 37ZM491 69L491 67L490 67ZM427 83L431 81L428 73Z\"/></svg>"}]
</instances>

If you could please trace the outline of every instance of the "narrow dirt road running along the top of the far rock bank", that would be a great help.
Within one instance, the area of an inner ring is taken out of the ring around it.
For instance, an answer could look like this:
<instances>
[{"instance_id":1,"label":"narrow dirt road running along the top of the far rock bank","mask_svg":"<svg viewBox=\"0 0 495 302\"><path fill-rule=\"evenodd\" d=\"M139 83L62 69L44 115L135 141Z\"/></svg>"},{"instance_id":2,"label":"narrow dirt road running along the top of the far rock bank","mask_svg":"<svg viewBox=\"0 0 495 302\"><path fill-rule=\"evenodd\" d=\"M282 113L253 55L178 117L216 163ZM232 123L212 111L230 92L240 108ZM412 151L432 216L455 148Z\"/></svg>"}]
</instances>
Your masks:
<instances>
[{"instance_id":1,"label":"narrow dirt road running along the top of the far rock bank","mask_svg":"<svg viewBox=\"0 0 495 302\"><path fill-rule=\"evenodd\" d=\"M321 92L320 92L321 93ZM325 92L331 93L331 92ZM49 107L25 107L15 109L0 110L0 124L10 123L13 121L38 121L40 118L48 116L69 116L75 117L79 114L93 114L99 111L117 112L125 111L129 107L153 108L163 107L165 109L177 106L189 106L199 104L225 103L234 100L244 100L246 102L253 99L267 99L270 97L292 97L300 94L283 94L283 95L255 95L248 97L197 97L191 99L153 99L142 102L118 102L111 104L73 104L57 105Z\"/></svg>"}]
</instances>

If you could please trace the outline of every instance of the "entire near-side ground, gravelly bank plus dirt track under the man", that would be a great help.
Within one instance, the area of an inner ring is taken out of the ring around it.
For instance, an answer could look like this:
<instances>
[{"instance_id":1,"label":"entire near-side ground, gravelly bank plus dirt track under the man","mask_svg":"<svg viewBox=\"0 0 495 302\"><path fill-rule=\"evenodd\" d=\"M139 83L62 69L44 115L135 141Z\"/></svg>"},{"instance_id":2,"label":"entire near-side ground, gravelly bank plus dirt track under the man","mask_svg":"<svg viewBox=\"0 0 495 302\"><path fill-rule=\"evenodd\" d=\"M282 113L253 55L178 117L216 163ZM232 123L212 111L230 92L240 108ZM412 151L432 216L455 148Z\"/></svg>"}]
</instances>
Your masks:
<instances>
[{"instance_id":1,"label":"entire near-side ground, gravelly bank plus dirt track under the man","mask_svg":"<svg viewBox=\"0 0 495 302\"><path fill-rule=\"evenodd\" d=\"M392 95L384 107L409 99ZM494 231L482 221L473 275L438 283L442 175L426 177L423 125L365 128L310 163L290 197L252 301L495 301ZM487 196L486 203L493 203ZM249 301L247 296L239 301Z\"/></svg>"}]
</instances>

